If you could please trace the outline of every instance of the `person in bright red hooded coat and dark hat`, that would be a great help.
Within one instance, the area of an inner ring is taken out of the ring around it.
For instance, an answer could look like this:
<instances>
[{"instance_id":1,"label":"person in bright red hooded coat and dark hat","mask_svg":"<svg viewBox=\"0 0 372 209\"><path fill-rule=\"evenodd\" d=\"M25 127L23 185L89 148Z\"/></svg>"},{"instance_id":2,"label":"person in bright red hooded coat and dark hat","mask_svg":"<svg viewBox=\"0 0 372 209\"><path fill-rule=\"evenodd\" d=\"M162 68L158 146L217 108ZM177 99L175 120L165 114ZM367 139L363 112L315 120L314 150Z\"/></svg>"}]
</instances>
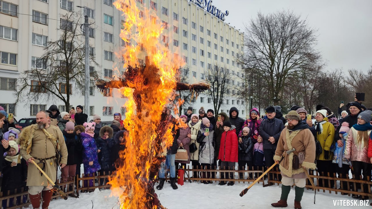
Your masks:
<instances>
[{"instance_id":1,"label":"person in bright red hooded coat and dark hat","mask_svg":"<svg viewBox=\"0 0 372 209\"><path fill-rule=\"evenodd\" d=\"M224 122L224 132L221 136L218 160L221 160L222 169L235 170L235 163L238 162L238 137L235 126L232 126L230 121ZM224 173L221 173L221 179L224 179L224 177ZM230 172L230 179L234 179L233 172ZM225 181L221 181L218 185L225 184ZM234 185L234 181L230 181L227 185Z\"/></svg>"}]
</instances>

